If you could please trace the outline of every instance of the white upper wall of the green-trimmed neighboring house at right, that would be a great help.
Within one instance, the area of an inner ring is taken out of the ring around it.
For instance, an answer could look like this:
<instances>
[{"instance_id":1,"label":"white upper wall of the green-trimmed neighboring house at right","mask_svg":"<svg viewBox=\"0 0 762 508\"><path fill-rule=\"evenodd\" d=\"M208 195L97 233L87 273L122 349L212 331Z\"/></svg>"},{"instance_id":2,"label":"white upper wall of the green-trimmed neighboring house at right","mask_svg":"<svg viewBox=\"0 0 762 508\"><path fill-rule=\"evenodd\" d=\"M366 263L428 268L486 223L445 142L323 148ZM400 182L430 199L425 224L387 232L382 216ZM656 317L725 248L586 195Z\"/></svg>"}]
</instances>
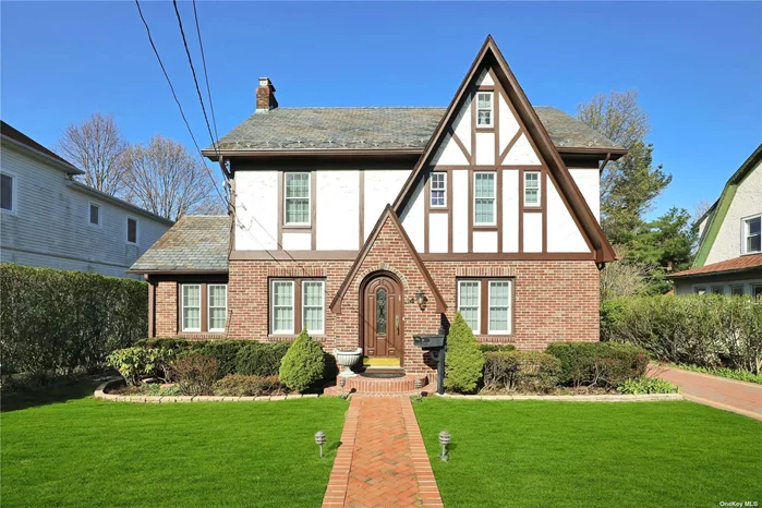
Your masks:
<instances>
[{"instance_id":1,"label":"white upper wall of the green-trimmed neighboring house at right","mask_svg":"<svg viewBox=\"0 0 762 508\"><path fill-rule=\"evenodd\" d=\"M717 238L706 256L706 265L741 255L741 220L762 214L762 170L758 164L736 190Z\"/></svg>"}]
</instances>

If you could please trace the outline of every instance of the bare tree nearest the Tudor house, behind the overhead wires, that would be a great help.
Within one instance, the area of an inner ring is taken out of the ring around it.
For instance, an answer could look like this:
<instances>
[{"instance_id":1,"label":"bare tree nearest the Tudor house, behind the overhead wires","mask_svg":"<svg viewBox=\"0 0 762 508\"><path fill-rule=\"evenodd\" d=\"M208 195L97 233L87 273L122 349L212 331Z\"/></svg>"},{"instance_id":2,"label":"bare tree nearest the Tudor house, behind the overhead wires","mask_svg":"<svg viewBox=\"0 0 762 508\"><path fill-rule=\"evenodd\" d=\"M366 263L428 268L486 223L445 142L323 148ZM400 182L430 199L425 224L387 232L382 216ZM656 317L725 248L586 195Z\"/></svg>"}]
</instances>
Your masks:
<instances>
[{"instance_id":1,"label":"bare tree nearest the Tudor house, behind the overhead wires","mask_svg":"<svg viewBox=\"0 0 762 508\"><path fill-rule=\"evenodd\" d=\"M126 199L170 220L185 214L221 214L222 199L202 162L184 146L156 135L123 156Z\"/></svg>"}]
</instances>

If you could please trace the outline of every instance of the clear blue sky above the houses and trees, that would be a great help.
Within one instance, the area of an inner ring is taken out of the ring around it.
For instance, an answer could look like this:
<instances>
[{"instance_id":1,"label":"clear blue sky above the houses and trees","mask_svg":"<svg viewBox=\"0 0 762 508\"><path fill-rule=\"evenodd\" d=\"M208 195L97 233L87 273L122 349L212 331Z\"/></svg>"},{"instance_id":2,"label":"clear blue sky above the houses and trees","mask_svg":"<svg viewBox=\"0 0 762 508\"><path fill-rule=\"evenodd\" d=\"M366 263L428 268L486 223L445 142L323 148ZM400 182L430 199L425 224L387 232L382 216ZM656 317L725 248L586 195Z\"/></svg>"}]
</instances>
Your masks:
<instances>
[{"instance_id":1,"label":"clear blue sky above the houses and trees","mask_svg":"<svg viewBox=\"0 0 762 508\"><path fill-rule=\"evenodd\" d=\"M197 58L193 11L180 4ZM220 135L254 109L258 76L281 106L446 106L487 34L532 104L573 113L638 88L655 161L674 176L655 213L714 201L762 141L762 3L199 2ZM192 147L134 2L8 2L2 119L40 143L113 112L132 142ZM208 144L171 2L143 10L191 126Z\"/></svg>"}]
</instances>

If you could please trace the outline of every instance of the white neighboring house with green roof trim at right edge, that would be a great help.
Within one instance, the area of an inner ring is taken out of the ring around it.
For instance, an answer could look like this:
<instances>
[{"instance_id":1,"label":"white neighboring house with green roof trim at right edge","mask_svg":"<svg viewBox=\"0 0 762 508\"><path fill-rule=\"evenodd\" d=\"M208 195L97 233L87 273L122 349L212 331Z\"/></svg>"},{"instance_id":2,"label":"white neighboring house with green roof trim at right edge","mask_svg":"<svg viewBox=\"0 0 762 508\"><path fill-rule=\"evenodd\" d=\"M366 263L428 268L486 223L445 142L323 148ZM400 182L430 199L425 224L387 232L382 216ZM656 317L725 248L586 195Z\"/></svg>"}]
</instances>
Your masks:
<instances>
[{"instance_id":1,"label":"white neighboring house with green roof trim at right edge","mask_svg":"<svg viewBox=\"0 0 762 508\"><path fill-rule=\"evenodd\" d=\"M762 295L762 145L699 219L693 266L670 276L676 294Z\"/></svg>"}]
</instances>

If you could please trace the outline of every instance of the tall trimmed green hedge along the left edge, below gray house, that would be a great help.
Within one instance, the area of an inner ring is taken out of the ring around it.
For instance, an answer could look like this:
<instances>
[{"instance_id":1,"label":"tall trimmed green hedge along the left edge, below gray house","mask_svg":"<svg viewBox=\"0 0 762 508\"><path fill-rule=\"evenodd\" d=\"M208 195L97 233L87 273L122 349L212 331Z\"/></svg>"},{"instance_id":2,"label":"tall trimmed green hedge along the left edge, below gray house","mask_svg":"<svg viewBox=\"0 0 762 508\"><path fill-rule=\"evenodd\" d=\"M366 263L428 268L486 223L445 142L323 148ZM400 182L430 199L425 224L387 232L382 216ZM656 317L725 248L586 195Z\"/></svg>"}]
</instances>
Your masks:
<instances>
[{"instance_id":1,"label":"tall trimmed green hedge along the left edge, below gray house","mask_svg":"<svg viewBox=\"0 0 762 508\"><path fill-rule=\"evenodd\" d=\"M148 285L0 264L2 375L93 373L148 331Z\"/></svg>"}]
</instances>

